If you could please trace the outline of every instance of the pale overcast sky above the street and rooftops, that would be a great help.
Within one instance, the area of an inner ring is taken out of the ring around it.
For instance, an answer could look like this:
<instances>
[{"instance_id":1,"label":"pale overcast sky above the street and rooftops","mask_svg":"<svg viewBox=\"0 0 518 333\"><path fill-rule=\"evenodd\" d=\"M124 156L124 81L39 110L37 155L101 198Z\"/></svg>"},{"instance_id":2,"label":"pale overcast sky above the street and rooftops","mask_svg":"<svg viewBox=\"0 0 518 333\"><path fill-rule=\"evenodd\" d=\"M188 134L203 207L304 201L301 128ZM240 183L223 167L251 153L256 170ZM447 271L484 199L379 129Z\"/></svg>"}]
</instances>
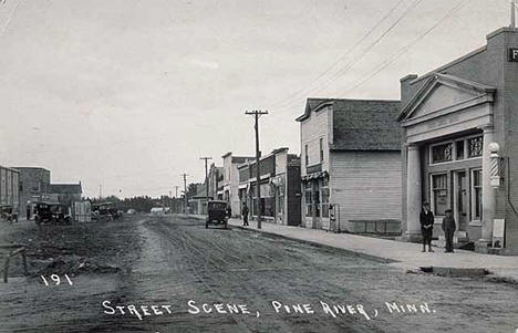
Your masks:
<instances>
[{"instance_id":1,"label":"pale overcast sky above the street and rooftops","mask_svg":"<svg viewBox=\"0 0 518 333\"><path fill-rule=\"evenodd\" d=\"M84 196L168 195L201 156L300 153L308 97L400 97L485 45L508 0L6 0L0 165Z\"/></svg>"}]
</instances>

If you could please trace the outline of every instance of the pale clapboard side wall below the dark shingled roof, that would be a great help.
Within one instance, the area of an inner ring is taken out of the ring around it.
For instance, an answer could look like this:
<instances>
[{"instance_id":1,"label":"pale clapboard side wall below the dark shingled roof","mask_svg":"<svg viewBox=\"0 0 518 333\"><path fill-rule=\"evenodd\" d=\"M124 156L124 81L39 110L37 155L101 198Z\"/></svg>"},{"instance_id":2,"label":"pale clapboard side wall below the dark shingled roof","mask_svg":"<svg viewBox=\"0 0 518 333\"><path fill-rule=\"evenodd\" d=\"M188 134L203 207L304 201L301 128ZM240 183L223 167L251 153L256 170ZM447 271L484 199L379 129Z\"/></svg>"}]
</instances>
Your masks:
<instances>
[{"instance_id":1,"label":"pale clapboard side wall below the dark shingled roof","mask_svg":"<svg viewBox=\"0 0 518 333\"><path fill-rule=\"evenodd\" d=\"M401 220L400 152L332 152L332 204L341 220Z\"/></svg>"}]
</instances>

